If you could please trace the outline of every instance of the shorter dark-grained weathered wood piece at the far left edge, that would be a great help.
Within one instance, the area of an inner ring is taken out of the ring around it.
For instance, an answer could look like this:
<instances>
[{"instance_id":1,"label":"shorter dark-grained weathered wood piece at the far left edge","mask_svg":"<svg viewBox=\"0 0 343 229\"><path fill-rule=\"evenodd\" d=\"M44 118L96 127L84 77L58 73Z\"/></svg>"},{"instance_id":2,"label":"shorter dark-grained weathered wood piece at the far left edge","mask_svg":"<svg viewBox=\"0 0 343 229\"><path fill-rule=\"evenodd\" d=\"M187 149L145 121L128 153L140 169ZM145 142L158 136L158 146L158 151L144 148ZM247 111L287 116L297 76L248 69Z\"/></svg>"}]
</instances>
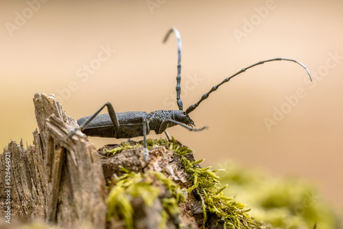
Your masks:
<instances>
[{"instance_id":1,"label":"shorter dark-grained weathered wood piece at the far left edge","mask_svg":"<svg viewBox=\"0 0 343 229\"><path fill-rule=\"evenodd\" d=\"M37 132L34 132L34 135ZM5 180L5 153L10 152L10 185ZM0 214L5 215L4 191L10 190L11 216L24 219L45 219L47 182L40 173L39 163L43 161L34 146L27 149L10 141L0 154Z\"/></svg>"}]
</instances>

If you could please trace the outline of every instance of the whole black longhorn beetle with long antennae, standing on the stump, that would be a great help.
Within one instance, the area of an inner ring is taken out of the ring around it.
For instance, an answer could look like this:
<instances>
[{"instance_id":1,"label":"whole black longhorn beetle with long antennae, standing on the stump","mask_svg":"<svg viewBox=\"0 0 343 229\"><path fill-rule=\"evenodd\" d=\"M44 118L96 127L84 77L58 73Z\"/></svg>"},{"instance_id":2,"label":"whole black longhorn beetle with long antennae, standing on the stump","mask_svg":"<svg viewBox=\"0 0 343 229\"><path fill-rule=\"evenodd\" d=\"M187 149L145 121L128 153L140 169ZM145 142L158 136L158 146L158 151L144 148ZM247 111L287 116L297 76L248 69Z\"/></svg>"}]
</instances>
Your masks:
<instances>
[{"instance_id":1,"label":"whole black longhorn beetle with long antennae, standing on the stump","mask_svg":"<svg viewBox=\"0 0 343 229\"><path fill-rule=\"evenodd\" d=\"M145 161L148 162L149 156L147 152L146 135L150 133L150 130L154 130L156 134L162 134L163 132L165 132L168 138L170 137L166 130L167 128L171 128L174 125L181 125L182 127L187 128L191 131L204 130L204 128L206 127L193 128L194 121L189 117L189 113L195 110L199 106L199 104L202 101L204 101L204 99L207 99L207 97L209 97L209 95L213 93L213 91L216 91L219 86L228 82L236 75L243 73L247 69L255 67L259 64L263 64L265 62L271 62L274 60L287 60L300 64L300 66L307 71L310 80L312 80L311 74L309 73L307 67L305 67L304 64L301 64L296 60L287 58L274 58L270 60L262 60L260 62L250 65L249 67L246 67L245 69L241 69L241 71L238 71L234 75L227 77L225 80L220 82L220 84L213 86L209 92L202 95L201 99L198 102L196 102L196 104L189 106L189 108L187 108L186 111L184 111L182 106L182 100L180 99L181 38L178 29L171 28L169 32L167 32L165 39L163 40L163 43L167 41L171 32L174 32L174 34L176 35L178 43L178 75L176 76L176 103L178 104L179 110L156 110L150 113L143 111L128 111L116 113L115 109L113 109L112 104L106 103L93 115L78 119L78 125L80 125L80 128L75 128L71 130L71 132L69 132L67 136L67 139L73 134L75 134L76 130L81 130L82 132L84 132L84 134L88 136L100 136L104 138L133 138L136 136L143 136L143 157ZM105 106L108 109L108 114L99 115L99 112L102 111L102 109L104 109Z\"/></svg>"}]
</instances>

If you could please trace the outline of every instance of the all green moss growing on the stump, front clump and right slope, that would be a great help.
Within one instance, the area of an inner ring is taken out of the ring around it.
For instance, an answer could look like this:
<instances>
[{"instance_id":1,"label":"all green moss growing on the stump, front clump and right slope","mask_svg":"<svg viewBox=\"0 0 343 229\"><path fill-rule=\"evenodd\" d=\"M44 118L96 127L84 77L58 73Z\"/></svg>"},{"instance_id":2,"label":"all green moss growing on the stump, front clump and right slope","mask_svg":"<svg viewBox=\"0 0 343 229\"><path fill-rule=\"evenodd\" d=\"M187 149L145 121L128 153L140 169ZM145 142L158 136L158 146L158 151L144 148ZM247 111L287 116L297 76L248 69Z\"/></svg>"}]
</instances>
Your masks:
<instances>
[{"instance_id":1,"label":"all green moss growing on the stump, front clump and right slope","mask_svg":"<svg viewBox=\"0 0 343 229\"><path fill-rule=\"evenodd\" d=\"M141 142L140 144L143 144ZM147 139L147 147L149 149L152 149L153 147L158 147L160 145L166 145L169 147L169 150L172 150L175 152L180 157L180 160L182 161L182 165L185 167L185 171L189 173L191 176L189 180L192 183L192 186L187 190L188 193L196 193L196 195L200 198L201 203L202 203L202 210L203 210L203 215L204 215L204 220L203 224L204 227L206 227L206 221L208 219L208 215L217 215L217 218L219 221L221 221L222 224L224 224L225 228L259 228L255 224L255 221L253 221L247 211L249 209L245 208L244 204L241 204L237 201L235 201L231 197L227 197L223 194L223 190L226 188L226 186L221 187L220 185L220 178L217 176L217 172L220 170L211 170L211 167L206 167L206 168L200 168L198 164L202 162L202 160L197 160L197 161L189 161L186 156L187 154L193 152L193 150L189 149L189 147L182 147L180 143L178 143L174 138L172 138L172 141L167 141L165 139ZM134 145L134 146L129 146L129 145L124 145L123 143L121 144L120 149L117 149L117 152L123 149L127 148L134 148L139 145ZM110 153L113 153L116 151L111 151ZM151 173L151 172L150 172ZM149 174L150 174L149 173ZM128 172L127 174L132 174ZM136 173L134 173L136 174ZM126 180L128 177L135 178L137 179L137 176L139 179L142 179L143 176L145 175L124 175L125 177L119 178L119 180L122 180L120 183L120 186L123 186L123 183L126 183ZM164 176L162 173L156 173L154 172L154 176ZM138 179L138 180L139 180ZM134 182L130 182L130 185L136 184L138 180ZM178 212L178 203L180 202L181 198L184 196L182 195L182 191L175 186L174 182L171 180L165 180L165 178L161 179L162 183L168 187L168 190L174 193L174 198L169 198L163 200L163 206L165 208L165 213L168 214L175 214ZM120 182L120 181L119 181ZM139 182L142 182L140 180ZM141 184L142 185L142 184ZM143 184L145 191L148 190L147 186L151 185L150 183ZM117 185L118 186L118 183ZM116 189L116 186L113 189ZM127 190L128 186L125 185L125 187L121 187L121 189L118 188L120 192L123 192L123 190L126 190L126 193L121 193L121 196L127 195ZM136 187L132 189L137 189ZM145 195L142 190L140 190L143 193L137 193L137 196L139 195ZM113 191L111 191L112 193ZM114 192L118 192L115 190ZM152 190L154 193L154 190ZM108 197L108 202L111 202L113 206L111 206L111 209L122 209L122 211L128 211L129 216L126 217L125 215L118 213L117 211L115 212L114 210L109 210L109 215L121 215L123 219L126 220L126 225L131 226L132 225L132 213L130 212L130 208L128 206L123 206L124 204L121 204L121 206L116 207L116 202L118 200L122 200L121 198L115 199L113 195L109 195ZM115 193L117 195L117 193ZM110 197L111 196L111 197ZM129 194L130 196L130 194ZM130 198L129 198L130 199ZM130 202L130 200L128 200ZM109 206L110 209L110 206ZM126 209L126 210L125 210ZM128 227L129 228L129 227Z\"/></svg>"}]
</instances>

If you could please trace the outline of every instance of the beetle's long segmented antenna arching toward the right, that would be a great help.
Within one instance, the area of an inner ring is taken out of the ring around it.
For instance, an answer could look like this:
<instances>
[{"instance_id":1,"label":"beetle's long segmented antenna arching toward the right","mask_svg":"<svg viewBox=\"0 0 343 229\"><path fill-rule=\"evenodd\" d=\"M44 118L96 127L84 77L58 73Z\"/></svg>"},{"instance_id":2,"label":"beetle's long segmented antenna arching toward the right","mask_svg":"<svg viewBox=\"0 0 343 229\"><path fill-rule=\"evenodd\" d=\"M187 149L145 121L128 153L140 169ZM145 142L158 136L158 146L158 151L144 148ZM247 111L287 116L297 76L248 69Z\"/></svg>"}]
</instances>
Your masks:
<instances>
[{"instance_id":1,"label":"beetle's long segmented antenna arching toward the right","mask_svg":"<svg viewBox=\"0 0 343 229\"><path fill-rule=\"evenodd\" d=\"M274 58L274 59L270 59L270 60L262 60L262 61L260 61L260 62L257 62L256 64L252 64L252 65L250 65L249 67L246 67L245 69L241 69L241 71L238 71L237 73L231 75L230 77L227 77L227 78L226 78L225 80L223 80L220 84L217 84L216 86L213 86L213 87L211 88L211 90L210 90L208 93L204 93L204 95L202 95L201 99L200 99L196 104L193 104L193 105L189 106L189 108L187 108L187 110L186 110L186 113L189 114L190 112L192 112L193 110L195 110L195 109L199 106L199 104L200 104L202 101L204 101L205 99L207 99L207 97L209 97L209 95L210 95L211 93L213 93L213 91L217 90L217 88L218 88L220 85L222 85L222 84L228 82L231 78L235 77L236 75L239 75L240 73L243 73L243 72L246 71L247 69L250 69L250 68L255 67L255 66L259 65L259 64L264 64L265 62L271 62L271 61L274 61L274 60L287 60L287 61L292 61L292 62L296 62L297 64L300 64L300 66L303 67L303 68L307 71L307 74L309 74L309 79L312 81L312 77L311 77L311 73L309 73L309 69L307 69L307 67L306 67L304 64L302 64L302 63L300 63L300 62L298 62L298 61L296 61L296 60L286 59L286 58Z\"/></svg>"}]
</instances>

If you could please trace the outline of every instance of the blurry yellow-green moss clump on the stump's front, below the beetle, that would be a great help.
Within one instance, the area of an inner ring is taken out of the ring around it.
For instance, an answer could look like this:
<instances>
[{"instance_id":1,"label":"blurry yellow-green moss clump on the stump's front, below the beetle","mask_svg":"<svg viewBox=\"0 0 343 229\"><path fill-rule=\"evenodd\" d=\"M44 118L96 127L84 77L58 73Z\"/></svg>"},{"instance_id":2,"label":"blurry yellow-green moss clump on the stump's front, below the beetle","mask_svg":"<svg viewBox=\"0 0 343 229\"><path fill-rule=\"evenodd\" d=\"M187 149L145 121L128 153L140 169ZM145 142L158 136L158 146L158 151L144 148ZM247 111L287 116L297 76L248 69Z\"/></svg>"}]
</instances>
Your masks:
<instances>
[{"instance_id":1,"label":"blurry yellow-green moss clump on the stump's front, below the beetle","mask_svg":"<svg viewBox=\"0 0 343 229\"><path fill-rule=\"evenodd\" d=\"M171 179L166 178L163 173L157 171L147 171L146 173L134 173L121 168L125 174L120 178L113 180L113 188L107 197L108 213L107 219L112 217L116 220L125 222L126 228L134 228L132 200L142 198L147 206L152 206L154 201L164 190L161 190L156 183L162 184L169 191L169 195L163 195L160 198L163 211L161 212L161 225L164 228L167 218L173 217L178 213L178 204L185 202L185 192L180 189L178 184ZM166 197L167 196L167 197Z\"/></svg>"}]
</instances>

